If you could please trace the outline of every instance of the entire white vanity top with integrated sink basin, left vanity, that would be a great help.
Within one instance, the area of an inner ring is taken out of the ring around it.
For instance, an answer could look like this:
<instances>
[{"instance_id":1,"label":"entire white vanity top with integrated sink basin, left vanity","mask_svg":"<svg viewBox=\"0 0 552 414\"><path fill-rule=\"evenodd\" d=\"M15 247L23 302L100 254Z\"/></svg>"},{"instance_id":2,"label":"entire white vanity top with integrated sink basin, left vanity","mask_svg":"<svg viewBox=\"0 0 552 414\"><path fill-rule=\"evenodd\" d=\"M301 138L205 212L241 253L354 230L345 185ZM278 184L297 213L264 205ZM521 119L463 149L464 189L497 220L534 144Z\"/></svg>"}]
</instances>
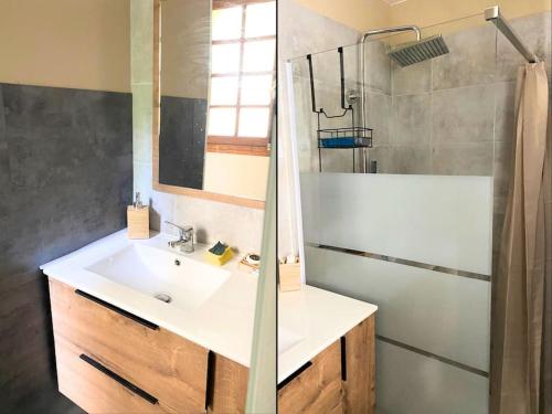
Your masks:
<instances>
[{"instance_id":1,"label":"entire white vanity top with integrated sink basin, left vanity","mask_svg":"<svg viewBox=\"0 0 552 414\"><path fill-rule=\"evenodd\" d=\"M41 269L51 282L79 289L250 367L258 276L241 272L238 257L223 266L209 264L206 245L197 244L192 254L176 252L168 246L173 240L168 234L129 240L124 229ZM157 294L172 300L157 300Z\"/></svg>"}]
</instances>

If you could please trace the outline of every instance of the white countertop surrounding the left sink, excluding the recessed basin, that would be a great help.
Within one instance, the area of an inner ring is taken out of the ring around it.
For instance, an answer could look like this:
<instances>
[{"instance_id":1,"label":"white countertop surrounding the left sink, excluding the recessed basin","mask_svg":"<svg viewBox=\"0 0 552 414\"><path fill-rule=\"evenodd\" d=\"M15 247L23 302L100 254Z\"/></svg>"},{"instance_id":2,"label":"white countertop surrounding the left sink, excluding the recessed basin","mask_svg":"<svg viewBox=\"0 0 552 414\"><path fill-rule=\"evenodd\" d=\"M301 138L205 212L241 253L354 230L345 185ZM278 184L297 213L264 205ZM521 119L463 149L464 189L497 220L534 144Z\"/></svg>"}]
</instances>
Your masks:
<instances>
[{"instance_id":1,"label":"white countertop surrounding the left sink, excluding the recessed basin","mask_svg":"<svg viewBox=\"0 0 552 414\"><path fill-rule=\"evenodd\" d=\"M53 279L106 300L248 368L257 276L237 269L237 255L221 267L231 272L229 280L205 302L189 311L174 308L170 304L85 269L102 257L131 243L145 243L168 251L176 257L182 256L205 263L203 253L208 246L197 244L195 252L191 255L181 254L167 246L169 240L174 237L157 234L149 240L130 241L126 230L121 230L44 264L41 269Z\"/></svg>"}]
</instances>

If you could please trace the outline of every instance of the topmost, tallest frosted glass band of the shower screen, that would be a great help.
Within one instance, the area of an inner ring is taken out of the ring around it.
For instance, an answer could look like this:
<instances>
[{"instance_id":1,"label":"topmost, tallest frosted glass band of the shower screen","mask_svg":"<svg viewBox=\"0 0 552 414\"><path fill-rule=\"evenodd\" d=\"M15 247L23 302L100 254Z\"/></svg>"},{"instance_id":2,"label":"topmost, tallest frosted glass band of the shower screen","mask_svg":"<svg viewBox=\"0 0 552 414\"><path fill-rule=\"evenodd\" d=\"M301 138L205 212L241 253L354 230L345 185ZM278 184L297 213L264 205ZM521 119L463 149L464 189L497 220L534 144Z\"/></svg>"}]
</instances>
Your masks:
<instances>
[{"instance_id":1,"label":"topmost, tallest frosted glass band of the shower screen","mask_svg":"<svg viewBox=\"0 0 552 414\"><path fill-rule=\"evenodd\" d=\"M492 177L302 173L300 182L306 242L490 275Z\"/></svg>"}]
</instances>

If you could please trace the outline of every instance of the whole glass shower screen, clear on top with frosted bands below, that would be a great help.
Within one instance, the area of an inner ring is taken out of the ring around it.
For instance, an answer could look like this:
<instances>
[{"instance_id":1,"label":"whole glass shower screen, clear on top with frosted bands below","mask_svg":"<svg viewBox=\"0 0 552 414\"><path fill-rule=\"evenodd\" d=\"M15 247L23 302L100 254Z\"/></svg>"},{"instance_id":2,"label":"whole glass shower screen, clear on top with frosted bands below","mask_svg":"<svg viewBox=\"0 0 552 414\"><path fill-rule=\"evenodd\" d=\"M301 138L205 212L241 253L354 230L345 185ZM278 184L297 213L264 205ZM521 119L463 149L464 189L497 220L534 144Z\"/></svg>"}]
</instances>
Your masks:
<instances>
[{"instance_id":1,"label":"whole glass shower screen, clear on top with frosted bands below","mask_svg":"<svg viewBox=\"0 0 552 414\"><path fill-rule=\"evenodd\" d=\"M449 53L405 67L386 52L408 34L367 43L364 119L359 45L288 66L306 282L379 306L381 413L488 410L507 93L492 25L423 30L436 33Z\"/></svg>"}]
</instances>

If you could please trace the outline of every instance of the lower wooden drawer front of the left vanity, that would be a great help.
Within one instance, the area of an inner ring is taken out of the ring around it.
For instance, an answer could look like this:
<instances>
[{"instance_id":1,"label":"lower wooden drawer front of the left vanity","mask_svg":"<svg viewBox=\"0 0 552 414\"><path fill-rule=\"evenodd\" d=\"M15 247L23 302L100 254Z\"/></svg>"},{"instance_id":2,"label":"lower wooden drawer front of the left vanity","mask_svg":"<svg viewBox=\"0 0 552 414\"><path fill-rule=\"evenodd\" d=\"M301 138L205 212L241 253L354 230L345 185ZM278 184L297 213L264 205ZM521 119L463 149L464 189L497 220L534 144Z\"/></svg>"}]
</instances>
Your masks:
<instances>
[{"instance_id":1,"label":"lower wooden drawer front of the left vanity","mask_svg":"<svg viewBox=\"0 0 552 414\"><path fill-rule=\"evenodd\" d=\"M84 350L65 339L55 339L60 392L87 413L177 414L162 403L152 401L151 396L132 390L132 384L125 383L117 378L120 376L117 373L106 373L102 371L102 365L87 362L87 358Z\"/></svg>"}]
</instances>

